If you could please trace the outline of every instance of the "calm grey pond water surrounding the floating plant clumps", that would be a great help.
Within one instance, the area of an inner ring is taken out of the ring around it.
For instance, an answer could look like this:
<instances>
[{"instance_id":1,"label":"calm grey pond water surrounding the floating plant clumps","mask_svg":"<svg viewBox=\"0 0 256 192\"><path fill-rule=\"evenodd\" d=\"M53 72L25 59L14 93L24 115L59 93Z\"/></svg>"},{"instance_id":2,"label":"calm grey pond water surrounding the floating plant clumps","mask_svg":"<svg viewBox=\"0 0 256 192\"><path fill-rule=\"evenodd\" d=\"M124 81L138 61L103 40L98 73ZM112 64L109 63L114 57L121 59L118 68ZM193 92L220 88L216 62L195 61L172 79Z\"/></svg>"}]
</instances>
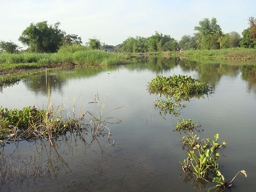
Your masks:
<instances>
[{"instance_id":1,"label":"calm grey pond water surrounding the floating plant clumps","mask_svg":"<svg viewBox=\"0 0 256 192\"><path fill-rule=\"evenodd\" d=\"M8 109L47 103L46 80L54 105L65 104L76 116L81 109L96 115L94 101L105 101L107 135L67 133L50 147L45 140L20 141L0 148L2 175L12 172L1 191L200 191L200 183L185 178L179 161L187 158L181 135L173 132L178 119L159 115L154 106L158 94L150 94L147 82L156 75L188 75L213 87L213 94L183 101L178 117L200 121L202 138L227 141L220 171L228 180L238 175L232 191L254 191L256 172L255 109L256 62L140 57L134 64L97 69L63 69L40 74L0 88L0 101ZM98 104L98 103L97 103ZM119 121L119 120L120 121ZM106 131L106 130L105 130ZM17 171L12 166L20 167ZM25 171L21 171L21 170ZM18 174L17 174L18 173ZM3 182L3 178L1 178ZM205 189L213 187L208 183Z\"/></svg>"}]
</instances>

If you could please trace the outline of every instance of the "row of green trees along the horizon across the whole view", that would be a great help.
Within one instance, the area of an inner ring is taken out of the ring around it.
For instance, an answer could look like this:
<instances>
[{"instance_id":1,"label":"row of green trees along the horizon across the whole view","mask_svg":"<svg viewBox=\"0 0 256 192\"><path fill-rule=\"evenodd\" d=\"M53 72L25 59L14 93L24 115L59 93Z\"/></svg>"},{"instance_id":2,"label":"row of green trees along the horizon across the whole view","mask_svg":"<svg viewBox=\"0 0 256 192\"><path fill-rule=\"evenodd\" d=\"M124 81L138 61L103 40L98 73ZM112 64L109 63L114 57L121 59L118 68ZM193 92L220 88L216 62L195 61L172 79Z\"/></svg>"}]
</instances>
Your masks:
<instances>
[{"instance_id":1,"label":"row of green trees along the horizon across the whole view","mask_svg":"<svg viewBox=\"0 0 256 192\"><path fill-rule=\"evenodd\" d=\"M243 37L236 31L224 33L217 24L217 19L204 18L195 26L197 31L193 36L183 35L178 42L170 35L155 32L150 37L128 37L123 43L116 46L106 45L100 40L89 39L86 46L91 49L113 49L125 53L145 53L148 51L176 51L179 49L222 49L232 47L256 48L256 18L248 19L249 27L242 32ZM31 23L19 37L19 41L28 46L28 51L37 53L54 53L61 45L73 43L82 44L82 39L76 34L66 34L59 29L60 23L48 25L47 21L37 24ZM0 42L1 51L17 53L21 49L14 42Z\"/></svg>"}]
</instances>

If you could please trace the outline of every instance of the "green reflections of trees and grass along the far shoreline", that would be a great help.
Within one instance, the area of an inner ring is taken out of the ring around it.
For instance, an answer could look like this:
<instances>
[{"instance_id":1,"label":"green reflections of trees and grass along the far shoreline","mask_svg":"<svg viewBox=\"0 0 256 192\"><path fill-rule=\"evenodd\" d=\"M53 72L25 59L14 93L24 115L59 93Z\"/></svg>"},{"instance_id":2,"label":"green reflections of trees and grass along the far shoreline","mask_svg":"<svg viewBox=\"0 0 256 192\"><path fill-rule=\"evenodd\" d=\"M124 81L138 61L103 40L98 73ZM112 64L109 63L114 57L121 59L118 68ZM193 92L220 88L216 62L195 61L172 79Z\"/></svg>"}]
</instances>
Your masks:
<instances>
[{"instance_id":1,"label":"green reflections of trees and grass along the far shoreline","mask_svg":"<svg viewBox=\"0 0 256 192\"><path fill-rule=\"evenodd\" d=\"M238 76L242 72L242 78L248 81L248 90L256 93L256 63L252 61L225 61L225 60L207 60L194 58L177 57L139 57L134 64L124 65L129 70L143 71L152 70L157 74L165 70L180 67L183 71L198 72L198 79L207 82L213 88L220 81L223 75ZM47 80L51 83L51 90L63 94L65 86L70 79L79 80L81 78L93 77L102 72L111 72L118 70L120 66L103 66L95 69L74 68L70 70L60 70L47 74ZM45 74L33 76L24 81L26 87L36 95L46 95L46 77ZM12 86L12 85L10 85ZM2 87L1 87L2 89Z\"/></svg>"}]
</instances>

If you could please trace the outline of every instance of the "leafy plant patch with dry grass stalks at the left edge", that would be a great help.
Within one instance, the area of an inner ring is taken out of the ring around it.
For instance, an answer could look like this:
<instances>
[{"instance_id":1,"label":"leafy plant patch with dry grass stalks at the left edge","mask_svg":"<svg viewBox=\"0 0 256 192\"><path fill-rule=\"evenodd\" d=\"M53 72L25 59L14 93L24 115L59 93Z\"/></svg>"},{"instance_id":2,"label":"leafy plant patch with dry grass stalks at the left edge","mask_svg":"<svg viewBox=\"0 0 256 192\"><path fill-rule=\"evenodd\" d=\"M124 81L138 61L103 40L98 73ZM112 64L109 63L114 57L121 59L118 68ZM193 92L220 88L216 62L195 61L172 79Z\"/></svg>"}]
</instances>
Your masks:
<instances>
[{"instance_id":1,"label":"leafy plant patch with dry grass stalks at the left edge","mask_svg":"<svg viewBox=\"0 0 256 192\"><path fill-rule=\"evenodd\" d=\"M81 113L79 118L75 118L74 106L73 115L68 112L68 117L63 118L62 113L67 108L61 104L55 107L49 102L46 109L37 109L35 106L24 107L22 110L0 107L0 147L4 146L4 141L16 141L20 139L32 140L45 138L52 144L52 139L65 134L67 131L88 131L88 128L93 132L93 137L97 134L106 134L103 130L108 129L108 139L110 130L106 127L106 123L102 121L103 108L106 100L103 103L102 108L99 106L100 112L96 108L96 95L95 95L95 108L98 114L98 118L88 110L85 113ZM99 100L98 100L99 103ZM122 106L123 107L123 106ZM120 107L118 107L120 108ZM116 108L116 109L118 109ZM115 110L115 109L113 109ZM110 111L109 111L110 112ZM109 113L108 112L108 113ZM107 113L106 113L107 114ZM90 122L84 123L84 118L89 115ZM72 117L73 116L73 117ZM100 133L97 133L100 131ZM6 142L7 143L7 142Z\"/></svg>"}]
</instances>

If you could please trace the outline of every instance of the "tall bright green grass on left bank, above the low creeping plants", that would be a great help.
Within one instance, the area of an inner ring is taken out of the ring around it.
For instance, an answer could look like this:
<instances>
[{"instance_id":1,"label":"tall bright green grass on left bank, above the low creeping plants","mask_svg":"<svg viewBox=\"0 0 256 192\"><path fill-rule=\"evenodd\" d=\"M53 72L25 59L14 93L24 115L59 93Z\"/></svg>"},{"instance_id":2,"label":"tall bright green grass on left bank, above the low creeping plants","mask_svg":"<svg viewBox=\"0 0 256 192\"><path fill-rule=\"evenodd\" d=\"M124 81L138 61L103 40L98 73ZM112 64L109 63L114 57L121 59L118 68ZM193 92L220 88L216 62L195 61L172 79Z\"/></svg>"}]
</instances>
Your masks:
<instances>
[{"instance_id":1,"label":"tall bright green grass on left bank, above the low creeping plants","mask_svg":"<svg viewBox=\"0 0 256 192\"><path fill-rule=\"evenodd\" d=\"M120 53L109 53L102 50L88 49L86 46L64 45L57 53L20 53L0 54L0 64L39 63L57 64L72 63L78 65L112 65L128 63L128 56Z\"/></svg>"}]
</instances>

